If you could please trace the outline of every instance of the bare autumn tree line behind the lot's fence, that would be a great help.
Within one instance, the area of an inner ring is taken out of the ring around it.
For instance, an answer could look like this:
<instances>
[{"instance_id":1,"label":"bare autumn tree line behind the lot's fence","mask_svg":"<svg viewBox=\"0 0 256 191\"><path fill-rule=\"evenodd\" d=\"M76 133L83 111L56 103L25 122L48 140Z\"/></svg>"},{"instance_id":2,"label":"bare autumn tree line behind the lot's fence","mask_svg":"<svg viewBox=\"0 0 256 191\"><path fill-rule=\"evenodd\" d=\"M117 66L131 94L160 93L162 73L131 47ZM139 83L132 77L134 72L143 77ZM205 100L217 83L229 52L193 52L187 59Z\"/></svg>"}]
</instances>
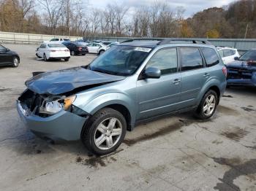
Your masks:
<instances>
[{"instance_id":1,"label":"bare autumn tree line behind the lot's fence","mask_svg":"<svg viewBox=\"0 0 256 191\"><path fill-rule=\"evenodd\" d=\"M0 31L65 36L256 38L256 0L235 1L184 17L184 7L154 1L104 9L80 0L0 0Z\"/></svg>"}]
</instances>

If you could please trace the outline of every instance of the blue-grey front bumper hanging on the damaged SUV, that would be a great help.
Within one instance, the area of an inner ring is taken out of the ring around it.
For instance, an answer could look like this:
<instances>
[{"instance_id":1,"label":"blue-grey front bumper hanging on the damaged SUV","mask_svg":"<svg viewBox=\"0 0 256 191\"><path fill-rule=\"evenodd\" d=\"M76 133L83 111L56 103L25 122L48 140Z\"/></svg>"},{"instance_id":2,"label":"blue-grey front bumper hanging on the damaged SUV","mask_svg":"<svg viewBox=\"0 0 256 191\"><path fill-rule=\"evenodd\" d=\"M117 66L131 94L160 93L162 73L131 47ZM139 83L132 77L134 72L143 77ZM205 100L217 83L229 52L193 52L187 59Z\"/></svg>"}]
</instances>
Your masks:
<instances>
[{"instance_id":1,"label":"blue-grey front bumper hanging on the damaged SUV","mask_svg":"<svg viewBox=\"0 0 256 191\"><path fill-rule=\"evenodd\" d=\"M20 101L17 101L16 105L21 120L31 131L53 140L79 140L83 125L89 118L80 117L64 110L50 117L39 117L34 114L26 114L26 111L20 105Z\"/></svg>"}]
</instances>

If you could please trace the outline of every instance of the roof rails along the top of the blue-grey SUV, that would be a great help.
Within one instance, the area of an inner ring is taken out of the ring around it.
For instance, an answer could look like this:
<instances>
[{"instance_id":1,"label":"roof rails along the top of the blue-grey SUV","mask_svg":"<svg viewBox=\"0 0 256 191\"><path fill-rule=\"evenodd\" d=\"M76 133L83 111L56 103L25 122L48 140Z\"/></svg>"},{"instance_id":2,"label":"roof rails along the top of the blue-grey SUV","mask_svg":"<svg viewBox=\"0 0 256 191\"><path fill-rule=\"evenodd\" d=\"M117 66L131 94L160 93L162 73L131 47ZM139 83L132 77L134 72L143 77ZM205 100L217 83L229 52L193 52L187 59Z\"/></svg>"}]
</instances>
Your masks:
<instances>
[{"instance_id":1,"label":"roof rails along the top of the blue-grey SUV","mask_svg":"<svg viewBox=\"0 0 256 191\"><path fill-rule=\"evenodd\" d=\"M138 39L128 39L125 40L124 42L133 42L133 41L159 41L157 43L157 45L162 45L162 44L171 44L171 43L192 43L192 44L211 44L211 42L208 42L206 39L188 39L188 38L168 38L168 39L164 39L164 38L159 38L159 39L155 39L155 38L138 38ZM121 43L124 43L121 42Z\"/></svg>"}]
</instances>

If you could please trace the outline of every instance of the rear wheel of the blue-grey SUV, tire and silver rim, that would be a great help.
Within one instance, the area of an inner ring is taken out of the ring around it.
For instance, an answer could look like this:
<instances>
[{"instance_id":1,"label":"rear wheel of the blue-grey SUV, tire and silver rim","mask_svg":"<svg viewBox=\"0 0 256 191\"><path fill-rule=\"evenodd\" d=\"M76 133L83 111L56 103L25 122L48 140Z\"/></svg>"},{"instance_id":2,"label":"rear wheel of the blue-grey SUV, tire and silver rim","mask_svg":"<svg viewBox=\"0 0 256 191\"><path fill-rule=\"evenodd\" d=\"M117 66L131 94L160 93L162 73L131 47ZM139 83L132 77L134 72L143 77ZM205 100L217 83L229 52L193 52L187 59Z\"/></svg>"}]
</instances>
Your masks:
<instances>
[{"instance_id":1,"label":"rear wheel of the blue-grey SUV, tire and silver rim","mask_svg":"<svg viewBox=\"0 0 256 191\"><path fill-rule=\"evenodd\" d=\"M211 101L212 99L212 101ZM214 115L217 109L218 95L214 90L208 90L197 107L196 115L201 120L207 120Z\"/></svg>"}]
</instances>

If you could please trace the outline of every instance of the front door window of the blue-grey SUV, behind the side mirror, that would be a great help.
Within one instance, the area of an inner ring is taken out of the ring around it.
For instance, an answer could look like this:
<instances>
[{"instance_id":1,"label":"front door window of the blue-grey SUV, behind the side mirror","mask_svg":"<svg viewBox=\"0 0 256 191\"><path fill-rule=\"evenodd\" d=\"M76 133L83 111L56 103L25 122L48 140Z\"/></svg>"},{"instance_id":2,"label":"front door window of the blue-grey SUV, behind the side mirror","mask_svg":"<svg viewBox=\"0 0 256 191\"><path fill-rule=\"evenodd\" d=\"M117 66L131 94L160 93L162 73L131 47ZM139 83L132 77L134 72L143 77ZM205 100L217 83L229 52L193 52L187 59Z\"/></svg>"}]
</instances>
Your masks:
<instances>
[{"instance_id":1,"label":"front door window of the blue-grey SUV, behind the side mirror","mask_svg":"<svg viewBox=\"0 0 256 191\"><path fill-rule=\"evenodd\" d=\"M146 68L148 67L155 67L159 69L162 74L172 74L177 72L177 49L167 48L158 50L148 61Z\"/></svg>"}]
</instances>

